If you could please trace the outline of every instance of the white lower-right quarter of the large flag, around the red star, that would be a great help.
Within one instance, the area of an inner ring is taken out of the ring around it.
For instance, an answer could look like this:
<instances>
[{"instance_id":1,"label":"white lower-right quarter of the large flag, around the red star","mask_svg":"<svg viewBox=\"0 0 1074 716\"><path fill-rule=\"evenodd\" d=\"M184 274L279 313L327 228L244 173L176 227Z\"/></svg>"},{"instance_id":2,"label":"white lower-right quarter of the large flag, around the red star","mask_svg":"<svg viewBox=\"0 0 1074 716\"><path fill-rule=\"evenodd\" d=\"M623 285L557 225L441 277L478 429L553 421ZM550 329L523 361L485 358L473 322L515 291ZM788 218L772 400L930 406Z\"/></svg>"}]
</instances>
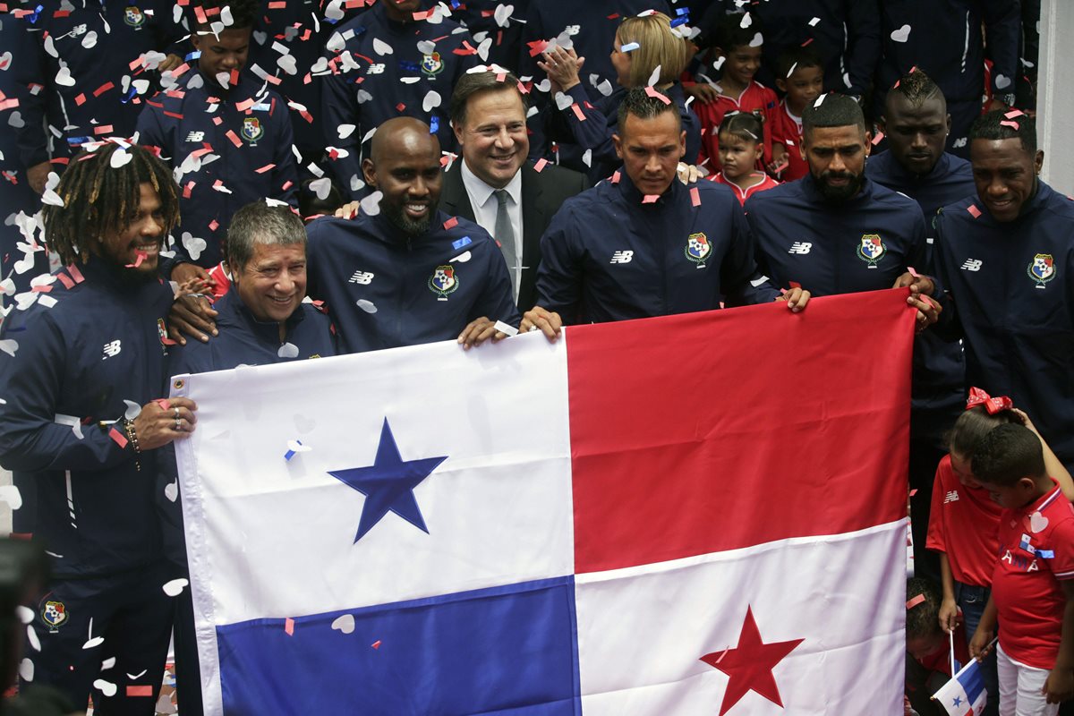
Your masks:
<instances>
[{"instance_id":1,"label":"white lower-right quarter of the large flag, around the red star","mask_svg":"<svg viewBox=\"0 0 1074 716\"><path fill-rule=\"evenodd\" d=\"M584 713L720 713L728 677L700 658L752 607L765 643L806 641L772 672L783 708L750 691L728 716L901 714L905 524L577 575Z\"/></svg>"}]
</instances>

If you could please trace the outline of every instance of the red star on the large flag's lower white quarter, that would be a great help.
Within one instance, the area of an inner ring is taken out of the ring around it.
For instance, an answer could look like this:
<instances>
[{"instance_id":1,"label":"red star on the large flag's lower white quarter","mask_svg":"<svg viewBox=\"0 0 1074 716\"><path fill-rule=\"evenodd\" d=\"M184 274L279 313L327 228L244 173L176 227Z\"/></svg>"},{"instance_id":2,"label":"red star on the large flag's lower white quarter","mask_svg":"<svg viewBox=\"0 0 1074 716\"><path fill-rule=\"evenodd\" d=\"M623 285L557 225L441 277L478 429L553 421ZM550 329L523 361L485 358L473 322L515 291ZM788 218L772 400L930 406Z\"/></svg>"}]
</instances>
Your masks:
<instances>
[{"instance_id":1,"label":"red star on the large flag's lower white quarter","mask_svg":"<svg viewBox=\"0 0 1074 716\"><path fill-rule=\"evenodd\" d=\"M742 623L738 646L701 657L701 661L728 676L727 690L724 691L724 701L720 705L720 716L724 716L748 691L756 691L778 706L782 706L783 701L772 669L802 641L804 640L795 639L766 644L760 640L757 622L753 618L753 609L746 607L745 622Z\"/></svg>"}]
</instances>

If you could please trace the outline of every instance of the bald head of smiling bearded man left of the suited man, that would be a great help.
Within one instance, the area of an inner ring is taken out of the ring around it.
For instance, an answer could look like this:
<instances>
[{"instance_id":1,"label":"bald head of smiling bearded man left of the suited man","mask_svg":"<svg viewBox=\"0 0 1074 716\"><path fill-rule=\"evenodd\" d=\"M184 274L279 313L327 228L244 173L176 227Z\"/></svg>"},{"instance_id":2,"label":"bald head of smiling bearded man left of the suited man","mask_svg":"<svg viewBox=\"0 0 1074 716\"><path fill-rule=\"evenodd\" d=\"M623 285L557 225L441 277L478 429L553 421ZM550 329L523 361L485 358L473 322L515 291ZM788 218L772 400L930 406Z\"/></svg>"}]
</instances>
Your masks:
<instances>
[{"instance_id":1,"label":"bald head of smiling bearded man left of the suited man","mask_svg":"<svg viewBox=\"0 0 1074 716\"><path fill-rule=\"evenodd\" d=\"M417 236L429 230L440 201L440 144L420 122L386 122L379 131L384 135L374 137L373 158L362 162L365 180L383 192L380 210L388 220Z\"/></svg>"}]
</instances>

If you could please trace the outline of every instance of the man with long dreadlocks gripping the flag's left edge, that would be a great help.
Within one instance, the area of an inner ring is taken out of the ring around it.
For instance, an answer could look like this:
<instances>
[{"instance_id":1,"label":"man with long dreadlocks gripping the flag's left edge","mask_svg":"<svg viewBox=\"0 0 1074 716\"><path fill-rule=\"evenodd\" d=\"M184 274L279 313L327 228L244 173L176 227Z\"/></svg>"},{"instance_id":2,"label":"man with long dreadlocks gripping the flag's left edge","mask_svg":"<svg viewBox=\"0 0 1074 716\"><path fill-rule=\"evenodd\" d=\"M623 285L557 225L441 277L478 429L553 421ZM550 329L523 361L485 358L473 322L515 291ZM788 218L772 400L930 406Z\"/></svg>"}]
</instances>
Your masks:
<instances>
[{"instance_id":1,"label":"man with long dreadlocks gripping the flag's left edge","mask_svg":"<svg viewBox=\"0 0 1074 716\"><path fill-rule=\"evenodd\" d=\"M92 695L98 714L149 716L173 612L157 449L195 422L193 401L160 399L172 292L157 261L176 188L146 149L113 140L72 160L57 193L45 236L67 268L0 332L0 465L37 474L34 538L52 557L28 658L35 683L81 706Z\"/></svg>"}]
</instances>

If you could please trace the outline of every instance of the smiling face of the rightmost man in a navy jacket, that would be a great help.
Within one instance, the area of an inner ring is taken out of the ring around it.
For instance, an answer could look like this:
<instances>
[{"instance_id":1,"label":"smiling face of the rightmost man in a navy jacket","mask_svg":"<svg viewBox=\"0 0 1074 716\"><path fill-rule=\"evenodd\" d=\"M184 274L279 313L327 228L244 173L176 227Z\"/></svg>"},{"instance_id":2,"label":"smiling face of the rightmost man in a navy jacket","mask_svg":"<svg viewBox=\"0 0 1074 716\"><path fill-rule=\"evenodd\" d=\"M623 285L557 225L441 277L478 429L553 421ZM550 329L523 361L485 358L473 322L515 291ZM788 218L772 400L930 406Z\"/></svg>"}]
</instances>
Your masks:
<instances>
[{"instance_id":1,"label":"smiling face of the rightmost man in a navy jacket","mask_svg":"<svg viewBox=\"0 0 1074 716\"><path fill-rule=\"evenodd\" d=\"M977 196L1000 222L1014 221L1036 193L1036 175L1044 165L1044 152L1031 154L1021 140L973 140L970 144L973 182Z\"/></svg>"}]
</instances>

